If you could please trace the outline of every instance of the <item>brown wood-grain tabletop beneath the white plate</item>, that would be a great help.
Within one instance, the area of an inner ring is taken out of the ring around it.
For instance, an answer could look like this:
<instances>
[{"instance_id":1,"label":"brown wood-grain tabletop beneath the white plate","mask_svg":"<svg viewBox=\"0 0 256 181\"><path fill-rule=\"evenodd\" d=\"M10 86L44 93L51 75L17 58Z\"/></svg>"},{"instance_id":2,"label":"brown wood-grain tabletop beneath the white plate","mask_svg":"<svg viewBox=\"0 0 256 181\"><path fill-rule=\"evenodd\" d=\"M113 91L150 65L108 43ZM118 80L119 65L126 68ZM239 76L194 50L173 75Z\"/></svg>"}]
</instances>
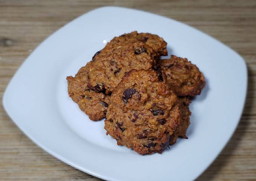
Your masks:
<instances>
[{"instance_id":1,"label":"brown wood-grain tabletop beneath the white plate","mask_svg":"<svg viewBox=\"0 0 256 181\"><path fill-rule=\"evenodd\" d=\"M40 42L69 21L100 6L125 6L173 18L241 54L249 77L241 121L227 146L198 180L256 180L255 0L0 0L1 103L9 80ZM99 179L44 152L16 127L1 104L0 180Z\"/></svg>"}]
</instances>

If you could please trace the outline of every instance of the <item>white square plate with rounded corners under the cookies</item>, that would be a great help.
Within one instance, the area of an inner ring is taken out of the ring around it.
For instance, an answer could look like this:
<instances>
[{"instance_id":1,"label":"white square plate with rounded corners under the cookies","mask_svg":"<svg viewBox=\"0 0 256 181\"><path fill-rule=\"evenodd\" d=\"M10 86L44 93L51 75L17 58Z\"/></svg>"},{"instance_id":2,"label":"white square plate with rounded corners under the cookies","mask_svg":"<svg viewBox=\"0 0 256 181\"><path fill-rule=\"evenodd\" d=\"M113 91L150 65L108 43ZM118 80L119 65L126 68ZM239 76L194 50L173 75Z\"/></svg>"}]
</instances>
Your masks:
<instances>
[{"instance_id":1,"label":"white square plate with rounded corners under the cookies","mask_svg":"<svg viewBox=\"0 0 256 181\"><path fill-rule=\"evenodd\" d=\"M114 36L133 30L162 36L168 51L187 57L206 77L192 102L189 139L162 154L142 156L105 135L67 94L75 75ZM65 163L106 180L193 180L216 158L239 122L247 68L235 51L183 23L133 9L95 9L47 38L9 83L3 105L37 145ZM184 171L186 172L184 174Z\"/></svg>"}]
</instances>

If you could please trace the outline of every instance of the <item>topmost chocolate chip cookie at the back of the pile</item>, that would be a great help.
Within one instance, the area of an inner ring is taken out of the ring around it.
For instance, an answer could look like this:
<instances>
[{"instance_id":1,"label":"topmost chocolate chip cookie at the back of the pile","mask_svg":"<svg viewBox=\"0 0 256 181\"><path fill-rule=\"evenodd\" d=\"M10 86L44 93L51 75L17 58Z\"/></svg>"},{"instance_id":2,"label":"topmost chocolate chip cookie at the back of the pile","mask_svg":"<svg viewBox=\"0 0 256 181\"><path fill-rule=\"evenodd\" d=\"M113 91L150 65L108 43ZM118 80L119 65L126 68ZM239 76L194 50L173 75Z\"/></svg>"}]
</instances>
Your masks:
<instances>
[{"instance_id":1,"label":"topmost chocolate chip cookie at the back of the pile","mask_svg":"<svg viewBox=\"0 0 256 181\"><path fill-rule=\"evenodd\" d=\"M131 32L114 37L90 62L89 84L114 91L125 72L151 69L159 56L166 55L166 42L150 33Z\"/></svg>"}]
</instances>

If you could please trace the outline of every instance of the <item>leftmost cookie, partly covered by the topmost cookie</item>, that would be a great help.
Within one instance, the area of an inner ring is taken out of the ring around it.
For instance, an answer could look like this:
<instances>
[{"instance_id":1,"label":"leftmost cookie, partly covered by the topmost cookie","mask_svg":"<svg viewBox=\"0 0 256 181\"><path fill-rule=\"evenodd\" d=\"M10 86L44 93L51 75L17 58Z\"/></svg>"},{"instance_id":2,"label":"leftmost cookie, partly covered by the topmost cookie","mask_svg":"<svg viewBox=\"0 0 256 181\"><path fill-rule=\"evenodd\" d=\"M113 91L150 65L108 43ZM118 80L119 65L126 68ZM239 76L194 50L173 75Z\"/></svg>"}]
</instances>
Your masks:
<instances>
[{"instance_id":1,"label":"leftmost cookie, partly covered by the topmost cookie","mask_svg":"<svg viewBox=\"0 0 256 181\"><path fill-rule=\"evenodd\" d=\"M88 67L79 69L75 77L67 77L69 97L93 121L105 117L109 105L109 95L88 88Z\"/></svg>"}]
</instances>

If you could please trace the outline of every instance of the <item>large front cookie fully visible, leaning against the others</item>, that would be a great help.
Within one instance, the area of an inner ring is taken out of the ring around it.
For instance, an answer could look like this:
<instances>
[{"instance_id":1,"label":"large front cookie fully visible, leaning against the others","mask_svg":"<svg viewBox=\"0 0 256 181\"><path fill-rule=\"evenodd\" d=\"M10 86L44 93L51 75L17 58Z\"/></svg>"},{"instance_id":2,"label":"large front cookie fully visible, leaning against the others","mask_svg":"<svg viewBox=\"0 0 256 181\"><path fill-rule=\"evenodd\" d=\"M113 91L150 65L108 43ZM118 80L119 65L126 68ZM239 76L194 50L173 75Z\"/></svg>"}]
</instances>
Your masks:
<instances>
[{"instance_id":1,"label":"large front cookie fully visible, leaning against the others","mask_svg":"<svg viewBox=\"0 0 256 181\"><path fill-rule=\"evenodd\" d=\"M161 153L180 124L178 98L169 90L165 75L154 70L131 70L110 101L107 134L139 154Z\"/></svg>"}]
</instances>

